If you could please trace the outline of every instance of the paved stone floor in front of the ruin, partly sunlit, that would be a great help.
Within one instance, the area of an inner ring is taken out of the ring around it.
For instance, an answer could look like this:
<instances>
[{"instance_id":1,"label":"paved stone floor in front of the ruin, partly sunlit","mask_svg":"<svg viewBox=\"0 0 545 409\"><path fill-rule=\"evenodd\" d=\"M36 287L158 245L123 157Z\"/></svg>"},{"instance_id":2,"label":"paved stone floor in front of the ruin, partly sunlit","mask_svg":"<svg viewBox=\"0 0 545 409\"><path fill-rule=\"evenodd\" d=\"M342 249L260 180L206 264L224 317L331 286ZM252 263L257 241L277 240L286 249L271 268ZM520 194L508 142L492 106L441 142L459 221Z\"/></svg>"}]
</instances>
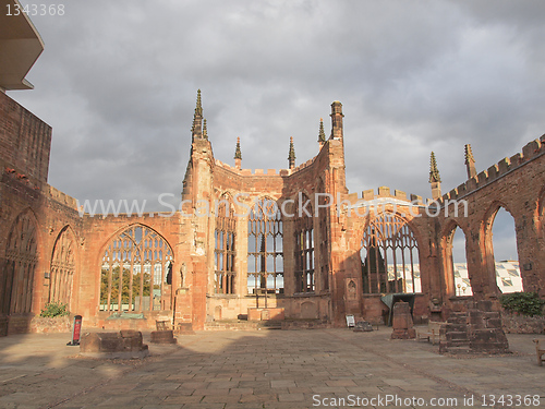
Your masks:
<instances>
[{"instance_id":1,"label":"paved stone floor in front of the ruin, partly sunlit","mask_svg":"<svg viewBox=\"0 0 545 409\"><path fill-rule=\"evenodd\" d=\"M545 407L536 336L509 335L511 354L445 357L390 333L201 332L143 360L80 357L70 334L3 337L0 408Z\"/></svg>"}]
</instances>

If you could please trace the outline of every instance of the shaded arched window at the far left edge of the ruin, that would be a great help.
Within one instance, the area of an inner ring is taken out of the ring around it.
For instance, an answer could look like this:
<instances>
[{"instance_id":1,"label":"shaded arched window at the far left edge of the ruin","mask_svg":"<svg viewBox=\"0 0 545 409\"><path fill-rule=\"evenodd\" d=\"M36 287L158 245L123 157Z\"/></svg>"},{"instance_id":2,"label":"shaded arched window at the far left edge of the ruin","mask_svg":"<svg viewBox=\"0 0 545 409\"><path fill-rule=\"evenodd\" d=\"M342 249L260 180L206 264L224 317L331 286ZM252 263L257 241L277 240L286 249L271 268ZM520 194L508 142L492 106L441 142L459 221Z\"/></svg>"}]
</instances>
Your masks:
<instances>
[{"instance_id":1,"label":"shaded arched window at the far left edge of the ruin","mask_svg":"<svg viewBox=\"0 0 545 409\"><path fill-rule=\"evenodd\" d=\"M31 212L17 216L8 236L2 279L1 313L29 313L38 264L36 224Z\"/></svg>"}]
</instances>

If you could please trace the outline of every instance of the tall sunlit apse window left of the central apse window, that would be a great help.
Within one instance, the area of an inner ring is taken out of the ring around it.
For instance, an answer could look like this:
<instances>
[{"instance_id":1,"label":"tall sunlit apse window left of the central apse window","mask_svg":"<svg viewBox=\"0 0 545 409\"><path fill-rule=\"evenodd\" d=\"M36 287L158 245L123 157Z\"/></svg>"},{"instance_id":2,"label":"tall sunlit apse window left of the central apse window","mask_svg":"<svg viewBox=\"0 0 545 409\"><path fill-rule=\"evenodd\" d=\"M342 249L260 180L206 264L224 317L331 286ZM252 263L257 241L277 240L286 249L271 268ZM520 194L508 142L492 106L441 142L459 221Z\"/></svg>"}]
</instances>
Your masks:
<instances>
[{"instance_id":1,"label":"tall sunlit apse window left of the central apse window","mask_svg":"<svg viewBox=\"0 0 545 409\"><path fill-rule=\"evenodd\" d=\"M214 231L214 292L220 294L234 293L234 238L237 219L234 207L227 196L218 202L216 229Z\"/></svg>"}]
</instances>

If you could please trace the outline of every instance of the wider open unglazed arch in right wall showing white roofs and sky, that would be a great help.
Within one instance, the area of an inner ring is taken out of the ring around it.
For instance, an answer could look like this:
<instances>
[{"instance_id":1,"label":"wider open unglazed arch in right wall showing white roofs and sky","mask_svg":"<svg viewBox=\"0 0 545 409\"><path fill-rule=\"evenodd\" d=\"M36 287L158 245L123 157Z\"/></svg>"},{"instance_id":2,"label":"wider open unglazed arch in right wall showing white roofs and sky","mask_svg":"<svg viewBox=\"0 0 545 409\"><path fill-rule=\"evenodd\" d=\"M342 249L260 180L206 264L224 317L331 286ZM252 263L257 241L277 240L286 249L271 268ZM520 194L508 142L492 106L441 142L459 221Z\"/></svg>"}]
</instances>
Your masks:
<instances>
[{"instance_id":1,"label":"wider open unglazed arch in right wall showing white roofs and sky","mask_svg":"<svg viewBox=\"0 0 545 409\"><path fill-rule=\"evenodd\" d=\"M498 207L492 220L492 254L498 289L504 293L523 291L514 219L504 207Z\"/></svg>"}]
</instances>

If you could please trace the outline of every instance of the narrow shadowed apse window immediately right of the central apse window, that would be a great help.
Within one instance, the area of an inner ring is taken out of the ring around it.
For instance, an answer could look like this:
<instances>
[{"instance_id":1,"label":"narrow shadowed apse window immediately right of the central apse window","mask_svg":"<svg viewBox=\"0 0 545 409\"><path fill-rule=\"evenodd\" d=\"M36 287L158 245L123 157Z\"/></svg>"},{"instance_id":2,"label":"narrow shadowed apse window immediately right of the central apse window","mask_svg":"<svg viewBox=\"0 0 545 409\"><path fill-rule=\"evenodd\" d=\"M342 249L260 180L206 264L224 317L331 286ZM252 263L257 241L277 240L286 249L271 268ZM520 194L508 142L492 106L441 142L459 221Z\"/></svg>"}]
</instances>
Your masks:
<instances>
[{"instance_id":1,"label":"narrow shadowed apse window immediately right of the central apse window","mask_svg":"<svg viewBox=\"0 0 545 409\"><path fill-rule=\"evenodd\" d=\"M295 292L314 292L314 227L312 203L300 194L294 209ZM308 216L311 215L311 216Z\"/></svg>"}]
</instances>

